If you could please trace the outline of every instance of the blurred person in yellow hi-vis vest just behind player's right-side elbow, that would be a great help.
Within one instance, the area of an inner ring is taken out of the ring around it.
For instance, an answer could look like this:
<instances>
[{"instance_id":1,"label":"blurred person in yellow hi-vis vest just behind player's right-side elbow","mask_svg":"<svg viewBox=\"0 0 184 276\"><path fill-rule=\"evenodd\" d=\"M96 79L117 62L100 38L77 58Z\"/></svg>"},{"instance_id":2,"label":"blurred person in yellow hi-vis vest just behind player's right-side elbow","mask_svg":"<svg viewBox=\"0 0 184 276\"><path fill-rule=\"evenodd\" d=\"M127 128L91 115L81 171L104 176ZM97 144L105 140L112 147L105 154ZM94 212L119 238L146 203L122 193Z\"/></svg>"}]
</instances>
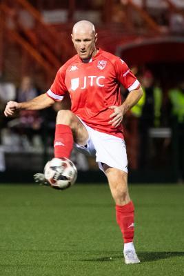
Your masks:
<instances>
[{"instance_id":1,"label":"blurred person in yellow hi-vis vest just behind player's right-side elbow","mask_svg":"<svg viewBox=\"0 0 184 276\"><path fill-rule=\"evenodd\" d=\"M132 145L138 152L137 140L140 137L139 166L144 168L147 165L147 152L149 142L149 129L161 126L162 90L156 84L154 76L150 70L145 71L141 80L143 97L131 109L132 115L136 118L136 144ZM134 130L135 132L135 130ZM134 139L132 140L134 141ZM137 155L136 155L136 158Z\"/></svg>"}]
</instances>

